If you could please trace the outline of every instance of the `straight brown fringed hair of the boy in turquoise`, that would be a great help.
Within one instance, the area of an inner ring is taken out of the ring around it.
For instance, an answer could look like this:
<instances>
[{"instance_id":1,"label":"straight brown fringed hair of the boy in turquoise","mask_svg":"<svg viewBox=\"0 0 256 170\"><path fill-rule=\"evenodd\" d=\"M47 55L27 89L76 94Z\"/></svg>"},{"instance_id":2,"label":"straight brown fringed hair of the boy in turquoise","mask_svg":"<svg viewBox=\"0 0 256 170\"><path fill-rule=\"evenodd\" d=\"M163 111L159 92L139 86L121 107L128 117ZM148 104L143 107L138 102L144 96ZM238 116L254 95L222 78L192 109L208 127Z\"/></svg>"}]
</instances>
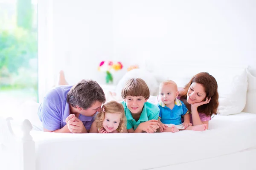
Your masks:
<instances>
[{"instance_id":1,"label":"straight brown fringed hair of the boy in turquoise","mask_svg":"<svg viewBox=\"0 0 256 170\"><path fill-rule=\"evenodd\" d=\"M125 87L122 89L122 98L127 96L143 96L148 99L150 95L148 85L143 79L130 79L126 82Z\"/></svg>"}]
</instances>

